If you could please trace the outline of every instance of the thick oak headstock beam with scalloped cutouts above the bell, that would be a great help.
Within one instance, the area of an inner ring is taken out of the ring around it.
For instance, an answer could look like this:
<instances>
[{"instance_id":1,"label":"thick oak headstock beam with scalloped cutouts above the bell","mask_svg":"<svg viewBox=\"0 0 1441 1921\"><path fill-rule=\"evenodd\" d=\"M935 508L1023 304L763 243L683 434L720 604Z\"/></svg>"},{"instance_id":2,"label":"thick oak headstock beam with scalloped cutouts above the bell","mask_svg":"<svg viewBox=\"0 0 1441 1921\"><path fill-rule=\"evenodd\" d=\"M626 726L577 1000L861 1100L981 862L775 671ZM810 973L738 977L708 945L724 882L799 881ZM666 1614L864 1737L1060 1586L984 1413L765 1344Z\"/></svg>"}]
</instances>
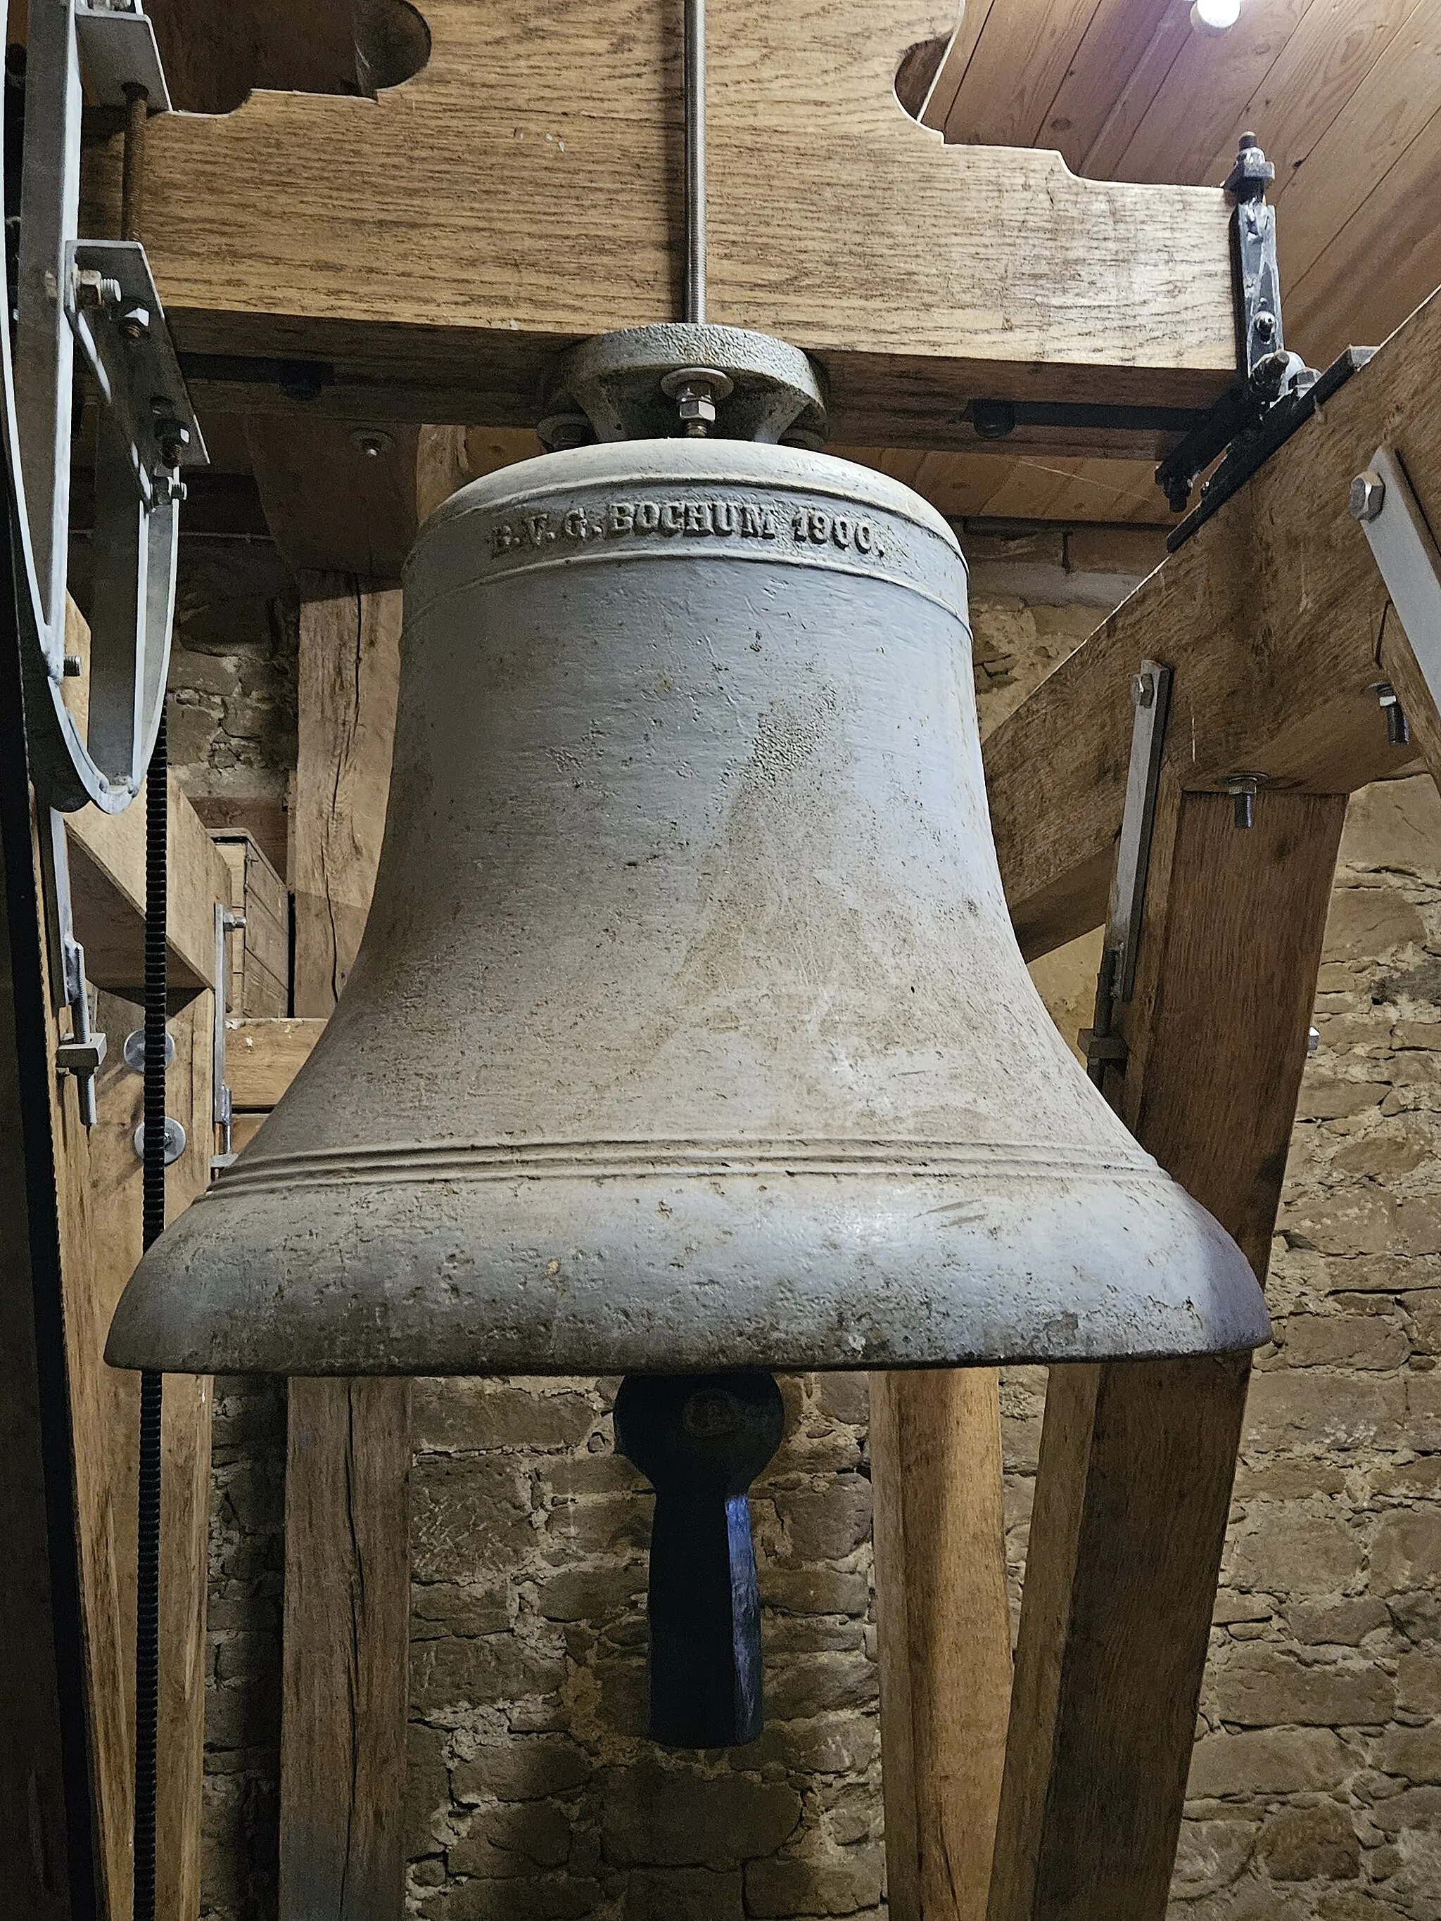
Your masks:
<instances>
[{"instance_id":1,"label":"thick oak headstock beam with scalloped cutouts above the bell","mask_svg":"<svg viewBox=\"0 0 1441 1921\"><path fill-rule=\"evenodd\" d=\"M425 71L377 100L254 92L150 129L144 238L181 346L334 369L317 401L219 369L208 403L528 426L561 348L678 313L676 17L425 15ZM991 394L1209 401L1235 371L1222 194L945 148L893 81L953 25L955 0L905 0L880 31L840 0L713 31L711 319L815 353L838 440L941 446ZM90 150L96 217L115 165Z\"/></svg>"}]
</instances>

